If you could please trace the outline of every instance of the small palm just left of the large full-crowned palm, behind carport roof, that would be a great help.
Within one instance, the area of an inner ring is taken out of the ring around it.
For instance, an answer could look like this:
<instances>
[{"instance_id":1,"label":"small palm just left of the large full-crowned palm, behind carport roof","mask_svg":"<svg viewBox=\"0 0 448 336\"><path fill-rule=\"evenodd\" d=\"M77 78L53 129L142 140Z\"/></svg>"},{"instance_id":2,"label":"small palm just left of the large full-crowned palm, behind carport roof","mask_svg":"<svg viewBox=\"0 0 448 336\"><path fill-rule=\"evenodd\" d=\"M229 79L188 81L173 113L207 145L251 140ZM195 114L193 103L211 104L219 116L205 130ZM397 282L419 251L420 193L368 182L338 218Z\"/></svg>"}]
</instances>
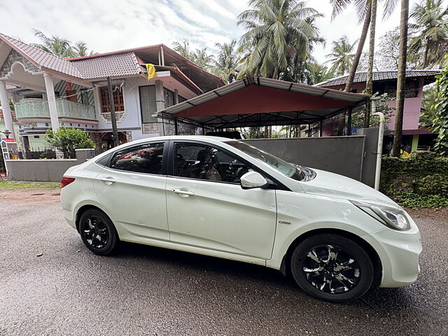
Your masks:
<instances>
[{"instance_id":1,"label":"small palm just left of the large full-crowned palm, behind carport roof","mask_svg":"<svg viewBox=\"0 0 448 336\"><path fill-rule=\"evenodd\" d=\"M232 83L239 72L239 60L241 56L237 52L237 41L233 39L230 43L216 43L218 53L211 72L221 78L224 83Z\"/></svg>"}]
</instances>

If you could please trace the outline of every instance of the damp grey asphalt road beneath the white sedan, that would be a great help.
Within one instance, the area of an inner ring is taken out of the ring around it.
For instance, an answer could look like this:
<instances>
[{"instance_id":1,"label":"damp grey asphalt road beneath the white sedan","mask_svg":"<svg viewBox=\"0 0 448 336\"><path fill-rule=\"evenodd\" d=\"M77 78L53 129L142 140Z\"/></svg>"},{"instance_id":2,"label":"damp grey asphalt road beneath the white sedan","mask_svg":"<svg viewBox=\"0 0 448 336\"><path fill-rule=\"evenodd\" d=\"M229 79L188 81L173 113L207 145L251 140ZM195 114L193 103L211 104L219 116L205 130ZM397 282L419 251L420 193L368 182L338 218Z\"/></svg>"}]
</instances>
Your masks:
<instances>
[{"instance_id":1,"label":"damp grey asphalt road beneath the white sedan","mask_svg":"<svg viewBox=\"0 0 448 336\"><path fill-rule=\"evenodd\" d=\"M134 244L93 255L57 190L0 191L0 335L447 335L448 219L416 222L417 283L332 304L241 262Z\"/></svg>"}]
</instances>

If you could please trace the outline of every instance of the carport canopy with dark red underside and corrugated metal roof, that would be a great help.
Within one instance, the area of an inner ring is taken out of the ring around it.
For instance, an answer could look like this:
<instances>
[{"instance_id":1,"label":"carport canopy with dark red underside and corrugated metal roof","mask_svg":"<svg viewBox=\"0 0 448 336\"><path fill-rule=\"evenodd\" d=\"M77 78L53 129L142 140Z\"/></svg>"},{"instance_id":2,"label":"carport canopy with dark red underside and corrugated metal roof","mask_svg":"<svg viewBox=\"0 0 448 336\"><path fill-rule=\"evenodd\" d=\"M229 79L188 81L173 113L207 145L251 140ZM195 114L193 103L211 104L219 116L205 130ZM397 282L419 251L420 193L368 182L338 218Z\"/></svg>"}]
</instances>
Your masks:
<instances>
[{"instance_id":1,"label":"carport canopy with dark red underside and corrugated metal roof","mask_svg":"<svg viewBox=\"0 0 448 336\"><path fill-rule=\"evenodd\" d=\"M158 112L214 128L318 123L370 98L283 80L248 76Z\"/></svg>"}]
</instances>

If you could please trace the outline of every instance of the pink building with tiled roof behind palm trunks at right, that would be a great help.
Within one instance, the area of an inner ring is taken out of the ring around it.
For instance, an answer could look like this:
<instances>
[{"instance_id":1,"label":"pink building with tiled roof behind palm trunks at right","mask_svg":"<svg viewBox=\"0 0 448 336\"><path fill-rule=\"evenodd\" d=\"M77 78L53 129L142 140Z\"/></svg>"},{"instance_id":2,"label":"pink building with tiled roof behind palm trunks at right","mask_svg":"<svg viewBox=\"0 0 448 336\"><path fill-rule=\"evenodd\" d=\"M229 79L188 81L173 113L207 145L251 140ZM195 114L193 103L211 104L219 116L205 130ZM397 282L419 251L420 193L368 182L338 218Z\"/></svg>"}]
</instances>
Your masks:
<instances>
[{"instance_id":1,"label":"pink building with tiled roof behind palm trunks at right","mask_svg":"<svg viewBox=\"0 0 448 336\"><path fill-rule=\"evenodd\" d=\"M395 97L397 90L397 71L375 71L373 73L373 92L379 94L387 93L388 97ZM423 86L433 83L439 70L407 70L406 71L406 91L405 91L405 111L403 114L403 139L402 144L408 151L416 149L428 149L432 145L435 135L419 125L421 98ZM340 76L325 80L316 86L328 87L335 90L344 90L348 76ZM366 72L358 72L353 80L351 92L360 93L365 89ZM395 100L388 102L391 108L395 109ZM386 126L393 131L395 117L391 116L391 123ZM332 134L332 125L323 127L323 136ZM386 139L390 140L390 139Z\"/></svg>"}]
</instances>

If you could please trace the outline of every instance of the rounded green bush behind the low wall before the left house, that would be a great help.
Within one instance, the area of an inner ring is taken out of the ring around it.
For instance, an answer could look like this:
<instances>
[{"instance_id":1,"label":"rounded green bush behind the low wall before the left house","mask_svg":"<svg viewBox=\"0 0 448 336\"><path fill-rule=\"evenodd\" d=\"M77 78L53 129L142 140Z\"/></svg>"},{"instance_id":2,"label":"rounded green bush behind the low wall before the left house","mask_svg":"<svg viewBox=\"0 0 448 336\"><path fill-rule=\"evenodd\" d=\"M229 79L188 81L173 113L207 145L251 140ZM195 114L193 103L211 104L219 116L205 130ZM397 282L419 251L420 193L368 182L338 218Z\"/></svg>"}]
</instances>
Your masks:
<instances>
[{"instance_id":1,"label":"rounded green bush behind the low wall before the left house","mask_svg":"<svg viewBox=\"0 0 448 336\"><path fill-rule=\"evenodd\" d=\"M62 151L64 158L74 158L76 149L95 146L89 134L78 128L61 127L56 132L47 130L47 135L45 140L50 146Z\"/></svg>"}]
</instances>

